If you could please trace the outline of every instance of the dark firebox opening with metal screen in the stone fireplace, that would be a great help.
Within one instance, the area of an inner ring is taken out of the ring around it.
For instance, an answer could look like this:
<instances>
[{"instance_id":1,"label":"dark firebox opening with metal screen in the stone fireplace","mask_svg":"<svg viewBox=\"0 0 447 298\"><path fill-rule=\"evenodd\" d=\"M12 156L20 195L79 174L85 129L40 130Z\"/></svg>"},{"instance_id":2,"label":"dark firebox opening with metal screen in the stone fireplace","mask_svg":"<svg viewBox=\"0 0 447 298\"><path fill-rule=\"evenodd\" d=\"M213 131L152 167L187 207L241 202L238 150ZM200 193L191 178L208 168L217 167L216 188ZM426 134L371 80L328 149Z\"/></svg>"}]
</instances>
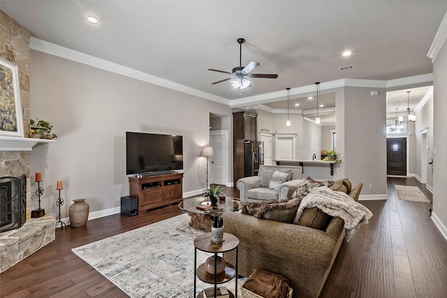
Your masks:
<instances>
[{"instance_id":1,"label":"dark firebox opening with metal screen in the stone fireplace","mask_svg":"<svg viewBox=\"0 0 447 298\"><path fill-rule=\"evenodd\" d=\"M0 232L22 227L27 221L27 176L0 177Z\"/></svg>"}]
</instances>

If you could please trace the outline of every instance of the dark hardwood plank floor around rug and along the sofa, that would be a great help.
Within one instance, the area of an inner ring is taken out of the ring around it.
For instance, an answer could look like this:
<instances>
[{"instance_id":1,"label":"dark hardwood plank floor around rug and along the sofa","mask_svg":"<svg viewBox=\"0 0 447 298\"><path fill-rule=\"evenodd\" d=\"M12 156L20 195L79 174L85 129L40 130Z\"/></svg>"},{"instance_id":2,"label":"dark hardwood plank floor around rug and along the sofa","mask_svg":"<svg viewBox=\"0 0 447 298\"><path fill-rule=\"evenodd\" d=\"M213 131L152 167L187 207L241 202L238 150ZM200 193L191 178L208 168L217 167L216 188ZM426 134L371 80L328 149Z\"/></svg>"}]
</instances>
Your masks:
<instances>
[{"instance_id":1,"label":"dark hardwood plank floor around rug and along the sofa","mask_svg":"<svg viewBox=\"0 0 447 298\"><path fill-rule=\"evenodd\" d=\"M418 186L432 200L416 179L388 178L388 200L360 201L374 216L342 244L320 297L447 297L447 241L430 219L431 204L398 200L395 184ZM223 192L239 196L235 188ZM0 274L0 297L127 297L71 248L178 214L174 204L57 228L54 241Z\"/></svg>"}]
</instances>

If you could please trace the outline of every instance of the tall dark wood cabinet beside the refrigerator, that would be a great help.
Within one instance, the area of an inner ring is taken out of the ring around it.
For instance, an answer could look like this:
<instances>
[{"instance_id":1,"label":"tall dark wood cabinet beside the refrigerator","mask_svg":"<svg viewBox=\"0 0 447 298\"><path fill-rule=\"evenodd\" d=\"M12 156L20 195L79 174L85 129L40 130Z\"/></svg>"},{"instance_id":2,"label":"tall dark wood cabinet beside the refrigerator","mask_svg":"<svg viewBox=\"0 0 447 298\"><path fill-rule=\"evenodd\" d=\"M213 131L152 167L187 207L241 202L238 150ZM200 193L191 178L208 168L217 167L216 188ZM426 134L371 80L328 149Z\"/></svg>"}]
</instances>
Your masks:
<instances>
[{"instance_id":1,"label":"tall dark wood cabinet beside the refrigerator","mask_svg":"<svg viewBox=\"0 0 447 298\"><path fill-rule=\"evenodd\" d=\"M251 112L233 113L233 181L257 174L258 142L256 117Z\"/></svg>"}]
</instances>

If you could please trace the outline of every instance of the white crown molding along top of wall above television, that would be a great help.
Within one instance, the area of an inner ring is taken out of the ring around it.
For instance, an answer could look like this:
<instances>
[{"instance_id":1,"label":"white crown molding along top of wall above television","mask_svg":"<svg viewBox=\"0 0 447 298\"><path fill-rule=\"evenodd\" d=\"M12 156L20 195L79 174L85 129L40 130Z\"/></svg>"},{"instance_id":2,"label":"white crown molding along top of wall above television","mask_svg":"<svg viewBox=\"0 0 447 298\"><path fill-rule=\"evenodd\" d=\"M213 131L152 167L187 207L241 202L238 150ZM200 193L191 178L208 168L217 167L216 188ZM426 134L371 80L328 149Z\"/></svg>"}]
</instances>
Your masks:
<instances>
[{"instance_id":1,"label":"white crown molding along top of wall above television","mask_svg":"<svg viewBox=\"0 0 447 298\"><path fill-rule=\"evenodd\" d=\"M184 86L182 84L177 84L169 80L162 79L161 77L156 77L155 75L149 75L148 73L143 73L140 70L135 70L120 64L115 64L108 60L104 60L98 57L91 56L82 52L68 49L68 47L62 47L61 45L56 45L54 43L49 43L45 40L31 37L29 47L31 50L36 50L38 52L43 52L45 54L50 54L56 57L64 58L67 60L75 61L80 64L85 64L91 67L100 68L102 70L110 71L111 73L117 73L119 75L124 75L126 77L131 77L135 80L140 80L150 84L156 84L161 87L168 89L173 89L185 94L190 94L192 96L198 96L200 98L205 98L208 100L215 101L217 103L223 103L225 105L230 105L230 100L222 98L220 96L215 96L207 92L200 91L198 89L193 89L191 87Z\"/></svg>"}]
</instances>

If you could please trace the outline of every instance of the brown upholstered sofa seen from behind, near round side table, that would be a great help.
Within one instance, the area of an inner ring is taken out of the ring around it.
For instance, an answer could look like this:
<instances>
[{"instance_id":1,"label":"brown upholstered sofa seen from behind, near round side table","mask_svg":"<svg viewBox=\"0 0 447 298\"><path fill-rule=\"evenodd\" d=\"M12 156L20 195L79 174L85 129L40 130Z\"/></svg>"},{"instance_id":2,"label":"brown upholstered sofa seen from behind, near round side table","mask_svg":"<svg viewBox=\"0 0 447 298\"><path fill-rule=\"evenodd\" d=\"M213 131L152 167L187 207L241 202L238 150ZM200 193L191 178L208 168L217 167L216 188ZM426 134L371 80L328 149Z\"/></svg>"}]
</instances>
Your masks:
<instances>
[{"instance_id":1,"label":"brown upholstered sofa seen from behind, near round side table","mask_svg":"<svg viewBox=\"0 0 447 298\"><path fill-rule=\"evenodd\" d=\"M361 188L353 188L351 198L358 200ZM318 297L345 236L342 218L331 218L325 229L317 230L237 212L222 217L225 232L240 240L238 274L248 277L254 269L265 269L286 276L293 297ZM235 252L224 258L234 264Z\"/></svg>"}]
</instances>

